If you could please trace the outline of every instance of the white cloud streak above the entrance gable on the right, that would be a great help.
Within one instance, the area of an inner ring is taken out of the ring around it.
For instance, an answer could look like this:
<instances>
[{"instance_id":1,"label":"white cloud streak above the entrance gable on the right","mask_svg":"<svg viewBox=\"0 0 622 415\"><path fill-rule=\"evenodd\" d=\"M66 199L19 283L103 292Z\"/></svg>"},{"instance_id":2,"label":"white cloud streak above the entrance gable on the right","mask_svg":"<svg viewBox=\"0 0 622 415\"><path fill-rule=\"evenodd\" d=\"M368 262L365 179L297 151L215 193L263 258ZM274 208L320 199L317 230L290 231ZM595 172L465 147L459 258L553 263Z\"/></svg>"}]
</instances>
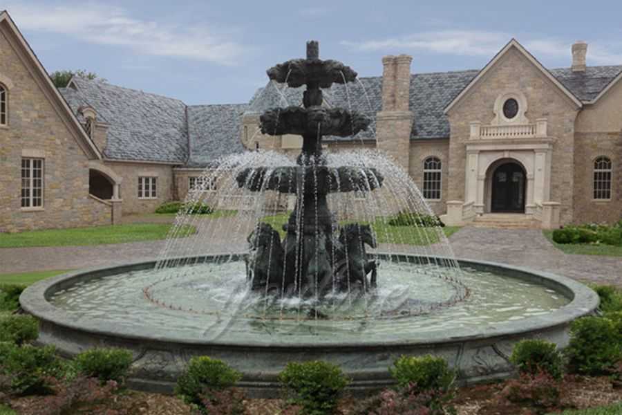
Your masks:
<instances>
[{"instance_id":1,"label":"white cloud streak above the entrance gable on the right","mask_svg":"<svg viewBox=\"0 0 622 415\"><path fill-rule=\"evenodd\" d=\"M343 41L341 44L363 52L422 50L442 55L493 57L512 37L516 37L529 52L540 59L571 59L572 40L534 39L529 35L522 37L511 33L482 30L439 30L364 42ZM588 43L590 43L587 48L589 64L622 64L622 44L598 40Z\"/></svg>"}]
</instances>

